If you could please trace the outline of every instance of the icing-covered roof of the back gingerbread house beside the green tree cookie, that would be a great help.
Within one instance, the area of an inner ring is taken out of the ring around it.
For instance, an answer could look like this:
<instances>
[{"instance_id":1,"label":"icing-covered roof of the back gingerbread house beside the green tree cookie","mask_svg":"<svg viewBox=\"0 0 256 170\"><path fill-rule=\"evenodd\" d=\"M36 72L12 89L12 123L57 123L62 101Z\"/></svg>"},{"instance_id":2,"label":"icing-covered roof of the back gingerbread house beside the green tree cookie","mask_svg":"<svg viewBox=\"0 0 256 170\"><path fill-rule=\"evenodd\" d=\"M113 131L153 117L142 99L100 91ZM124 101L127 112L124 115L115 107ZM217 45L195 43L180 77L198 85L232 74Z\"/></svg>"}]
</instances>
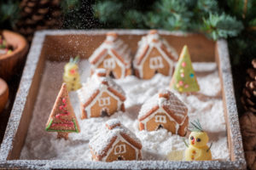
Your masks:
<instances>
[{"instance_id":1,"label":"icing-covered roof of the back gingerbread house beside the green tree cookie","mask_svg":"<svg viewBox=\"0 0 256 170\"><path fill-rule=\"evenodd\" d=\"M137 54L135 55L135 65L141 65L143 59L148 56L148 50L151 48L157 48L166 59L172 59L177 61L178 56L174 48L172 48L168 42L160 35L156 30L151 30L148 35L144 36L140 42L138 42Z\"/></svg>"}]
</instances>

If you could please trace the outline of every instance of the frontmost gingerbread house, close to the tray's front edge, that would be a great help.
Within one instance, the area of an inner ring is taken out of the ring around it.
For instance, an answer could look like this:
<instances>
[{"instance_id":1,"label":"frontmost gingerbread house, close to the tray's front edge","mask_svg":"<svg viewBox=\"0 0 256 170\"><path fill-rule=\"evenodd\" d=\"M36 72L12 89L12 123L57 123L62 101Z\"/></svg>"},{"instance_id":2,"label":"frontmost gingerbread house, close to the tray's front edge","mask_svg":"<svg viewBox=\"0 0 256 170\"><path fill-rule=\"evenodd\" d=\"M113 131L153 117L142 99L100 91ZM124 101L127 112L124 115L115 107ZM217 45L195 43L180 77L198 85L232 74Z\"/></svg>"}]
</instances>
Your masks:
<instances>
[{"instance_id":1,"label":"frontmost gingerbread house, close to the tray's front edge","mask_svg":"<svg viewBox=\"0 0 256 170\"><path fill-rule=\"evenodd\" d=\"M112 119L90 139L90 153L94 161L140 160L142 143L119 120Z\"/></svg>"}]
</instances>

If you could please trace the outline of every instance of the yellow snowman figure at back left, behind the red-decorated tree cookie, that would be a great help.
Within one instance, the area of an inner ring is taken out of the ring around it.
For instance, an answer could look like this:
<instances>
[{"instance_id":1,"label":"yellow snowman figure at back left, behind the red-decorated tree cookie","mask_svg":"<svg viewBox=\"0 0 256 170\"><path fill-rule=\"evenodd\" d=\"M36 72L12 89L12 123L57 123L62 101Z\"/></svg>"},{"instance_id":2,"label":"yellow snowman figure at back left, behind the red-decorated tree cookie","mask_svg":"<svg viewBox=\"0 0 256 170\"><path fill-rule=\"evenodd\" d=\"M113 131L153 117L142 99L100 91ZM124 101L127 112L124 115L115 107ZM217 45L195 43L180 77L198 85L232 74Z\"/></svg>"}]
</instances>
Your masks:
<instances>
[{"instance_id":1,"label":"yellow snowman figure at back left, behind the red-decorated tree cookie","mask_svg":"<svg viewBox=\"0 0 256 170\"><path fill-rule=\"evenodd\" d=\"M76 56L75 59L71 58L64 67L63 82L66 82L69 92L81 88L78 62L79 56Z\"/></svg>"}]
</instances>

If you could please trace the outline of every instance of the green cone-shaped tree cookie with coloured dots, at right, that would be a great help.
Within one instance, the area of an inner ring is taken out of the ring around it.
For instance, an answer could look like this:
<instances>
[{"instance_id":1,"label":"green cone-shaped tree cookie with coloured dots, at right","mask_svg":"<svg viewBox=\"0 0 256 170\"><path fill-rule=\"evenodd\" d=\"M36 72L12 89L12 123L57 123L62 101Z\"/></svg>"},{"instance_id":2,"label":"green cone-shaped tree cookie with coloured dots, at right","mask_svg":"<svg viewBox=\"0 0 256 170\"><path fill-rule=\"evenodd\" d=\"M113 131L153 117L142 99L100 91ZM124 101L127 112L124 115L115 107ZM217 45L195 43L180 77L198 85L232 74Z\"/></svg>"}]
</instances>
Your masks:
<instances>
[{"instance_id":1,"label":"green cone-shaped tree cookie with coloured dots, at right","mask_svg":"<svg viewBox=\"0 0 256 170\"><path fill-rule=\"evenodd\" d=\"M183 47L183 51L177 61L170 86L180 93L197 92L200 90L191 64L189 49L186 45Z\"/></svg>"}]
</instances>

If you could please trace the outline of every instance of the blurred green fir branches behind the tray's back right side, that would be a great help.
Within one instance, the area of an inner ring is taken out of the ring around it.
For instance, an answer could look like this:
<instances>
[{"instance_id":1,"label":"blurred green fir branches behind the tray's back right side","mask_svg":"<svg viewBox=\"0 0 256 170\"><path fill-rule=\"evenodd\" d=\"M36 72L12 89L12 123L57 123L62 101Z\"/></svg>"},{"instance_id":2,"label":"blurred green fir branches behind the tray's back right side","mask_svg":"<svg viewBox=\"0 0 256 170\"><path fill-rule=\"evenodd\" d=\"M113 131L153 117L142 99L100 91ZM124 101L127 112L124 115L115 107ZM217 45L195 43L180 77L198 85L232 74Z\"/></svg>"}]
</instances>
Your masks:
<instances>
[{"instance_id":1,"label":"blurred green fir branches behind the tray's back right side","mask_svg":"<svg viewBox=\"0 0 256 170\"><path fill-rule=\"evenodd\" d=\"M103 28L194 31L213 40L227 38L233 65L248 63L256 54L256 0L131 2L96 0L94 16ZM142 2L145 8L138 8Z\"/></svg>"}]
</instances>

